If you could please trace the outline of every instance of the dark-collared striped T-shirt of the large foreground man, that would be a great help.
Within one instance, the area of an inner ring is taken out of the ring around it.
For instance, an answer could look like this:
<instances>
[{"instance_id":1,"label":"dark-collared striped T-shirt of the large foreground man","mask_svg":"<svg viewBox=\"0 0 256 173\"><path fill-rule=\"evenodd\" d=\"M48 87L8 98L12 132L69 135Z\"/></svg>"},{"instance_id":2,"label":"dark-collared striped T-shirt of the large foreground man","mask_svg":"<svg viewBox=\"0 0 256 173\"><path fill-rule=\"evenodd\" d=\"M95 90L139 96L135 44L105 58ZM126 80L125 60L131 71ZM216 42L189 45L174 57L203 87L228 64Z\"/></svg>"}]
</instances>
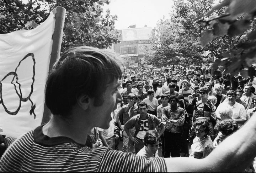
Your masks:
<instances>
[{"instance_id":1,"label":"dark-collared striped T-shirt of the large foreground man","mask_svg":"<svg viewBox=\"0 0 256 173\"><path fill-rule=\"evenodd\" d=\"M145 159L107 147L91 149L68 137L50 138L39 126L16 139L0 160L0 171L166 172L164 158Z\"/></svg>"}]
</instances>

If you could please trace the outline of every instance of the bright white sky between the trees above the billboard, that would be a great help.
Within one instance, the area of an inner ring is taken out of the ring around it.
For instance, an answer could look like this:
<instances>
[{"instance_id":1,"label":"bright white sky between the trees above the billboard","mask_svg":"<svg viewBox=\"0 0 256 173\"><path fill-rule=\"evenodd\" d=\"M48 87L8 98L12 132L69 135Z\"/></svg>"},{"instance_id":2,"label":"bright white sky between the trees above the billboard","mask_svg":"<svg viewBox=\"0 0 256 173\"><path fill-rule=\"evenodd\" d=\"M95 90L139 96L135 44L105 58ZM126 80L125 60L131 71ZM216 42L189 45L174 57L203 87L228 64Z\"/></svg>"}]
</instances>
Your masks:
<instances>
[{"instance_id":1,"label":"bright white sky between the trees above the billboard","mask_svg":"<svg viewBox=\"0 0 256 173\"><path fill-rule=\"evenodd\" d=\"M163 16L169 18L173 4L172 0L111 0L103 8L109 8L111 15L117 15L115 29L126 29L134 24L136 28L145 25L154 28Z\"/></svg>"}]
</instances>

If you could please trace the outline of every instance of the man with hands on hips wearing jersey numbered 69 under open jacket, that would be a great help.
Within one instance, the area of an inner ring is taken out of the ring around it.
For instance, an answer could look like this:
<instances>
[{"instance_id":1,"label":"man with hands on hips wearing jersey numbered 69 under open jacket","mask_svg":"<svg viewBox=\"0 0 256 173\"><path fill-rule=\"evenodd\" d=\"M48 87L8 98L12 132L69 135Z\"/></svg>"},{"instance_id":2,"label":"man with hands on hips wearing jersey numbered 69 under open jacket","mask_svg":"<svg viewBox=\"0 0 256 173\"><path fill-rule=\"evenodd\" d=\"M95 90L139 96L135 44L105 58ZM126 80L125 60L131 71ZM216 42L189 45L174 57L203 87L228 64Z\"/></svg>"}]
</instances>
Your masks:
<instances>
[{"instance_id":1,"label":"man with hands on hips wearing jersey numbered 69 under open jacket","mask_svg":"<svg viewBox=\"0 0 256 173\"><path fill-rule=\"evenodd\" d=\"M155 115L148 114L148 105L145 102L140 102L139 115L133 116L124 125L124 130L128 134L130 140L135 144L135 153L144 147L143 139L148 130L154 130L157 126L160 128L158 134L162 135L165 131L164 125ZM135 134L132 136L129 129L135 127Z\"/></svg>"}]
</instances>

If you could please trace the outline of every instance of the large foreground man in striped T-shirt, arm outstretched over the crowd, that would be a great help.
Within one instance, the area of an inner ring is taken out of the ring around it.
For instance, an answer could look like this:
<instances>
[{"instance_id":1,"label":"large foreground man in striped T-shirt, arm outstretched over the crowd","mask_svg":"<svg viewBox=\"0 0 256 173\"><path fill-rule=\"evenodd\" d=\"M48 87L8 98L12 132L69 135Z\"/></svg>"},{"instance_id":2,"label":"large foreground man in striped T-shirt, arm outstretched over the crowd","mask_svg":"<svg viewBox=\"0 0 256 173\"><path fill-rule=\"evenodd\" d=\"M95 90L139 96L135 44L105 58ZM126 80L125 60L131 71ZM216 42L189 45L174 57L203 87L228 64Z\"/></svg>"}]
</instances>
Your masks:
<instances>
[{"instance_id":1,"label":"large foreground man in striped T-shirt, arm outstretched over the crowd","mask_svg":"<svg viewBox=\"0 0 256 173\"><path fill-rule=\"evenodd\" d=\"M147 160L105 146L86 146L92 127L108 128L111 112L122 102L120 67L124 63L111 50L81 46L64 52L46 84L51 119L6 149L0 172L241 172L256 157L256 116L201 160Z\"/></svg>"}]
</instances>

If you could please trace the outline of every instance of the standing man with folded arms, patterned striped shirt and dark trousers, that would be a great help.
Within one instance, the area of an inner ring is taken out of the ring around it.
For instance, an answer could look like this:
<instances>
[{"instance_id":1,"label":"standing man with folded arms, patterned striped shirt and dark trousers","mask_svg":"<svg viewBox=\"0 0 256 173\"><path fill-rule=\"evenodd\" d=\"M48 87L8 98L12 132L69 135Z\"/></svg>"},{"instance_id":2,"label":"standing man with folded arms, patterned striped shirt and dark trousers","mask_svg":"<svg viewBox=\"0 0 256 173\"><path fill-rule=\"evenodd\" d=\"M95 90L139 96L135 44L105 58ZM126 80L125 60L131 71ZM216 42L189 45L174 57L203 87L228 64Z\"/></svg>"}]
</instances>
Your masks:
<instances>
[{"instance_id":1,"label":"standing man with folded arms, patterned striped shirt and dark trousers","mask_svg":"<svg viewBox=\"0 0 256 173\"><path fill-rule=\"evenodd\" d=\"M170 129L164 132L165 155L164 157L180 157L182 126L185 120L185 110L177 107L178 98L175 95L169 97L170 106L162 108L164 114L172 124Z\"/></svg>"}]
</instances>

